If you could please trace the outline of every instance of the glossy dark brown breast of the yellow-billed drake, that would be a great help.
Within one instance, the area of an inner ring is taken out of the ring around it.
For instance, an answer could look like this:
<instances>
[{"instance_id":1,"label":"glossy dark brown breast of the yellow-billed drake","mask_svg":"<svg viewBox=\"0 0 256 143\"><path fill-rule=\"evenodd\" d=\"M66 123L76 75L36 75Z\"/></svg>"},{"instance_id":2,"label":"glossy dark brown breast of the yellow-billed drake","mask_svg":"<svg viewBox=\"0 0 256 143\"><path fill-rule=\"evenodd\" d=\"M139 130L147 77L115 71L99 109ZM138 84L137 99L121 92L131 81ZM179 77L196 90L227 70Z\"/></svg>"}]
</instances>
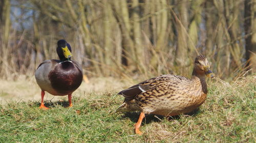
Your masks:
<instances>
[{"instance_id":1,"label":"glossy dark brown breast of the yellow-billed drake","mask_svg":"<svg viewBox=\"0 0 256 143\"><path fill-rule=\"evenodd\" d=\"M52 88L60 95L74 92L82 82L82 71L72 62L59 63L49 73Z\"/></svg>"}]
</instances>

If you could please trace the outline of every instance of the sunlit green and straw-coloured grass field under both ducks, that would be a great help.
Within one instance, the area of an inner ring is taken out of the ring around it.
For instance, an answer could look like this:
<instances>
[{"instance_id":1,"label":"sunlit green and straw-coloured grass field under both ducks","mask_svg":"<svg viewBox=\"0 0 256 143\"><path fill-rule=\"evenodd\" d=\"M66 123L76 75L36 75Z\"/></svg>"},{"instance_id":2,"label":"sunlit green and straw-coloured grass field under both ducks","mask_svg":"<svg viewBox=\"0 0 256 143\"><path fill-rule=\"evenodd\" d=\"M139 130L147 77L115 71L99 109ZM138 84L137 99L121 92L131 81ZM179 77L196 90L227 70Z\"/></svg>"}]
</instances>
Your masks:
<instances>
[{"instance_id":1,"label":"sunlit green and straw-coloured grass field under both ducks","mask_svg":"<svg viewBox=\"0 0 256 143\"><path fill-rule=\"evenodd\" d=\"M123 101L117 92L131 83L110 88L111 79L103 85L90 83L91 89L84 89L83 83L74 94L73 107L67 107L65 96L47 100L51 109L41 110L40 90L32 80L17 84L23 86L20 89L1 89L4 100L15 94L30 96L0 105L0 142L255 142L255 81L255 75L230 83L208 80L208 97L199 110L172 118L148 115L139 136L134 133L139 113L115 112Z\"/></svg>"}]
</instances>

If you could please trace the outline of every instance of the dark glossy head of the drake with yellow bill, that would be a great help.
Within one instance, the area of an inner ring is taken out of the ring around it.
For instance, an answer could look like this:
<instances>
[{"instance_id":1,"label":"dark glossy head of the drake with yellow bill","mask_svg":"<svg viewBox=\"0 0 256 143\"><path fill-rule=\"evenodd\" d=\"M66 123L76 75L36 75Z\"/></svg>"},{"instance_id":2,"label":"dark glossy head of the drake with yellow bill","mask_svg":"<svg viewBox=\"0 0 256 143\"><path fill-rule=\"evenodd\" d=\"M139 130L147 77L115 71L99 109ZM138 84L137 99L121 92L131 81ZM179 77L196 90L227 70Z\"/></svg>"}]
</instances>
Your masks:
<instances>
[{"instance_id":1,"label":"dark glossy head of the drake with yellow bill","mask_svg":"<svg viewBox=\"0 0 256 143\"><path fill-rule=\"evenodd\" d=\"M57 42L57 45L58 47L56 50L60 61L70 61L71 57L73 56L71 53L72 49L70 44L62 39Z\"/></svg>"}]
</instances>

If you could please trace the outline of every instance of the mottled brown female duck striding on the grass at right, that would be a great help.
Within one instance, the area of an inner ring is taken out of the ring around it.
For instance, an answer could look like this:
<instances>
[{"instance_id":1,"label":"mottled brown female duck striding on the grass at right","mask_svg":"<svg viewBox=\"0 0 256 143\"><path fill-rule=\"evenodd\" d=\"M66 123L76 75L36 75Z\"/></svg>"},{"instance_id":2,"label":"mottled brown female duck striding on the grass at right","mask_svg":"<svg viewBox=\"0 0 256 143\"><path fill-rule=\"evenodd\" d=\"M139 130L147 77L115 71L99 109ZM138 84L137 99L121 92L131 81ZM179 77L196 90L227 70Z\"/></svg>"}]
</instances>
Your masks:
<instances>
[{"instance_id":1,"label":"mottled brown female duck striding on the grass at right","mask_svg":"<svg viewBox=\"0 0 256 143\"><path fill-rule=\"evenodd\" d=\"M145 113L176 116L191 112L203 104L207 95L205 75L214 77L205 56L199 55L191 79L167 74L140 82L118 93L125 99L117 111L141 111L135 132L142 134L139 127Z\"/></svg>"}]
</instances>

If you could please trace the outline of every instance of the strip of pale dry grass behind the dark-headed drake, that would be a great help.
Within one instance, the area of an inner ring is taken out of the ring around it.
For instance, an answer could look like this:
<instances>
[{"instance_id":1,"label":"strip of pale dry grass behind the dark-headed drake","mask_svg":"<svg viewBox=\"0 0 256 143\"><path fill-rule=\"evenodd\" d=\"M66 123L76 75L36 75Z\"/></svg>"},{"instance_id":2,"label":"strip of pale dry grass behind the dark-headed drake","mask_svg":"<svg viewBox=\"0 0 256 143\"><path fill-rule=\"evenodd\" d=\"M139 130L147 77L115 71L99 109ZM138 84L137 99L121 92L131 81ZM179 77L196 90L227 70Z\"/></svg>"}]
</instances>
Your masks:
<instances>
[{"instance_id":1,"label":"strip of pale dry grass behind the dark-headed drake","mask_svg":"<svg viewBox=\"0 0 256 143\"><path fill-rule=\"evenodd\" d=\"M5 104L12 101L28 101L35 100L39 101L40 88L38 87L34 76L27 78L26 76L19 76L17 80L3 80L0 82L0 104ZM127 83L127 81L126 81ZM90 94L103 94L108 92L113 92L126 87L125 83L113 78L113 77L97 77L90 78L89 83L82 82L80 87L73 93L73 96L85 97ZM66 96L53 96L46 93L45 100L56 101L62 98L67 98Z\"/></svg>"}]
</instances>

